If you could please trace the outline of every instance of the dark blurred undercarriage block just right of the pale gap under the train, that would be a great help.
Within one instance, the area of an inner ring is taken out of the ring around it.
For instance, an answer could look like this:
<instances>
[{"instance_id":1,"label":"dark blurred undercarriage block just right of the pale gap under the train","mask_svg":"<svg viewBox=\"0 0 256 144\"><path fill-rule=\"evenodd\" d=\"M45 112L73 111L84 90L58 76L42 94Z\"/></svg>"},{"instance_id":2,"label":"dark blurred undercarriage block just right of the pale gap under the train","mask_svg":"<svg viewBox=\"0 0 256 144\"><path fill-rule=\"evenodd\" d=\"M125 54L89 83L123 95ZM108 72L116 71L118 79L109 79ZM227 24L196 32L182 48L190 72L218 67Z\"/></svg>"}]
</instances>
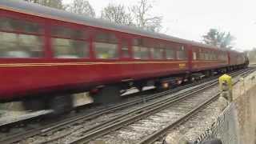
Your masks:
<instances>
[{"instance_id":1,"label":"dark blurred undercarriage block just right of the pale gap under the train","mask_svg":"<svg viewBox=\"0 0 256 144\"><path fill-rule=\"evenodd\" d=\"M121 99L119 86L105 86L96 94L92 94L95 103L109 104Z\"/></svg>"}]
</instances>

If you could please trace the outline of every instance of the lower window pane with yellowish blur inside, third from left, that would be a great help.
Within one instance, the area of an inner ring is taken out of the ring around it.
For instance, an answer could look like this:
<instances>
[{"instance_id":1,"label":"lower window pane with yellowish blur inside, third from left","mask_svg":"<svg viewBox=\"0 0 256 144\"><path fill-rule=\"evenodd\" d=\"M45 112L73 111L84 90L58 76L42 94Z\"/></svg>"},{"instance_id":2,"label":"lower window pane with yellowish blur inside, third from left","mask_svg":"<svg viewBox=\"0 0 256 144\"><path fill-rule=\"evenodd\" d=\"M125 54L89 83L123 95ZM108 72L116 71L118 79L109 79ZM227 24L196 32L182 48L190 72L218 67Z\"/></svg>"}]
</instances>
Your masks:
<instances>
[{"instance_id":1,"label":"lower window pane with yellowish blur inside, third from left","mask_svg":"<svg viewBox=\"0 0 256 144\"><path fill-rule=\"evenodd\" d=\"M94 42L96 58L118 58L118 46L110 43Z\"/></svg>"}]
</instances>

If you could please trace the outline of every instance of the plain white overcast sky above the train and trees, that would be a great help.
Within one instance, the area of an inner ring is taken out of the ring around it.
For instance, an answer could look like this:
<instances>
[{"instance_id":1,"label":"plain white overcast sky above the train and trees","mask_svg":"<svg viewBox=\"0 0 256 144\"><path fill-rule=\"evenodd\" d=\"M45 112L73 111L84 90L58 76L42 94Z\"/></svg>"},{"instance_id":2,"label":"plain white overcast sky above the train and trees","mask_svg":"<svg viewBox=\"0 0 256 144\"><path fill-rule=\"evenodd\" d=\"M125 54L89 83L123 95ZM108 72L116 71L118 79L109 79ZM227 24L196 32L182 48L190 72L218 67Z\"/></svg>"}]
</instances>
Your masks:
<instances>
[{"instance_id":1,"label":"plain white overcast sky above the train and trees","mask_svg":"<svg viewBox=\"0 0 256 144\"><path fill-rule=\"evenodd\" d=\"M108 3L131 6L138 0L88 0L99 16ZM72 0L63 0L65 3ZM235 50L256 47L254 0L153 0L152 14L162 15L162 33L202 42L210 28L230 31Z\"/></svg>"}]
</instances>

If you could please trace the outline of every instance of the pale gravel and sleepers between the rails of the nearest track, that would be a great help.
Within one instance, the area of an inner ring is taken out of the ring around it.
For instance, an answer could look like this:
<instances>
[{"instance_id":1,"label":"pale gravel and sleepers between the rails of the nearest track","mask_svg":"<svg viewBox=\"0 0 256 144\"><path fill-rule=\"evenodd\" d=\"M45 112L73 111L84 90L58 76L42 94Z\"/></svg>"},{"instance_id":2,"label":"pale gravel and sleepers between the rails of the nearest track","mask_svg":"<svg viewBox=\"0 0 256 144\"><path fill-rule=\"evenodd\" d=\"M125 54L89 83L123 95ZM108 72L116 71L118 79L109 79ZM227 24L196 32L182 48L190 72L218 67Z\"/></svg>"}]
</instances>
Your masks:
<instances>
[{"instance_id":1,"label":"pale gravel and sleepers between the rails of the nearest track","mask_svg":"<svg viewBox=\"0 0 256 144\"><path fill-rule=\"evenodd\" d=\"M153 114L148 118L143 118L138 122L134 122L130 126L125 126L120 130L114 131L110 134L96 139L96 141L90 142L105 142L106 144L113 143L138 143L142 138L149 134L153 134L156 130L160 130L168 123L174 122L176 119L181 118L189 110L198 106L202 102L212 96L212 93L216 93L218 87L215 86L210 90L200 92L194 95L194 98L187 98L183 102L178 102L166 110L162 110L157 114ZM202 98L203 97L203 98Z\"/></svg>"}]
</instances>

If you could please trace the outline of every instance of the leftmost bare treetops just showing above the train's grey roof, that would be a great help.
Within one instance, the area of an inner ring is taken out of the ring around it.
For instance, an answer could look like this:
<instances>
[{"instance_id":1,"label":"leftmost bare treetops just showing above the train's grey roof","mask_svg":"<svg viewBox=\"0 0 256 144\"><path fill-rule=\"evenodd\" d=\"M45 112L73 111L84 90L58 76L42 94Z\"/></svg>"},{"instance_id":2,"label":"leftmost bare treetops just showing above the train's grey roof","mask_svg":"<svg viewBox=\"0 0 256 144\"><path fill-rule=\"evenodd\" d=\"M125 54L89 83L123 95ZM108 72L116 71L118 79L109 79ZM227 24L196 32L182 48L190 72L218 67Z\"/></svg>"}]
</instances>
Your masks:
<instances>
[{"instance_id":1,"label":"leftmost bare treetops just showing above the train's grey roof","mask_svg":"<svg viewBox=\"0 0 256 144\"><path fill-rule=\"evenodd\" d=\"M65 6L62 4L62 0L24 0L26 2L38 3L42 6L49 6L59 10L65 10Z\"/></svg>"}]
</instances>

